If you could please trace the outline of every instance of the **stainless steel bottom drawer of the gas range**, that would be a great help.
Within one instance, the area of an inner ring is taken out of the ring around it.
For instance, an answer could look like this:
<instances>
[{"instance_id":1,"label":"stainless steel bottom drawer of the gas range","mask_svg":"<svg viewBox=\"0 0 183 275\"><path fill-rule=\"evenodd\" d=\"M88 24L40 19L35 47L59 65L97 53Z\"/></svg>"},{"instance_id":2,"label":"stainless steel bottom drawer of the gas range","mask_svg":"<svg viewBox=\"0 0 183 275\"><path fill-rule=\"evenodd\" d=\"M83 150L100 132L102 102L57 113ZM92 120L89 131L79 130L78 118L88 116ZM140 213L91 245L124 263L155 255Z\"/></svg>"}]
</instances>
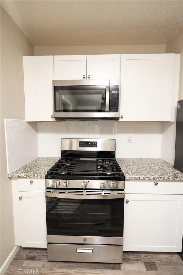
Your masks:
<instances>
[{"instance_id":1,"label":"stainless steel bottom drawer of the gas range","mask_svg":"<svg viewBox=\"0 0 183 275\"><path fill-rule=\"evenodd\" d=\"M122 245L47 245L48 261L122 263Z\"/></svg>"}]
</instances>

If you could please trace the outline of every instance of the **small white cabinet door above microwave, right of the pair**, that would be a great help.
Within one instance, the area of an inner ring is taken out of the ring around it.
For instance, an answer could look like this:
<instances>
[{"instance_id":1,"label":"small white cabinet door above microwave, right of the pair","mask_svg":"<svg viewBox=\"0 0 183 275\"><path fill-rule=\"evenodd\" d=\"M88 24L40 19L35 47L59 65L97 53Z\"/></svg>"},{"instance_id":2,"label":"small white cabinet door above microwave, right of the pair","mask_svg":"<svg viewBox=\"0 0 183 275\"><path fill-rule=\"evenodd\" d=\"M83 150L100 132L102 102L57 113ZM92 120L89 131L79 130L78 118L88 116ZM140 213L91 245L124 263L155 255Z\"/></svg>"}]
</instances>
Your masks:
<instances>
[{"instance_id":1,"label":"small white cabinet door above microwave, right of the pair","mask_svg":"<svg viewBox=\"0 0 183 275\"><path fill-rule=\"evenodd\" d=\"M88 79L120 79L120 54L87 55Z\"/></svg>"}]
</instances>

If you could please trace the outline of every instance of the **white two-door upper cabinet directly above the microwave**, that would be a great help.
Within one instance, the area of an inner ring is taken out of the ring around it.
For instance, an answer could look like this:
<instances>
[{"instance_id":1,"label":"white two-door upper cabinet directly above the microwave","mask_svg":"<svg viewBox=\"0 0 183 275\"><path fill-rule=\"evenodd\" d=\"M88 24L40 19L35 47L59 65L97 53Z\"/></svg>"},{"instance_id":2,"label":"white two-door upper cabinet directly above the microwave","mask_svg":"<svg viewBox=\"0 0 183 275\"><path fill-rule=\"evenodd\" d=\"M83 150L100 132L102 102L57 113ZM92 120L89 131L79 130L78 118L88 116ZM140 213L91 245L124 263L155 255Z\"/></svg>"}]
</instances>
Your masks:
<instances>
[{"instance_id":1,"label":"white two-door upper cabinet directly above the microwave","mask_svg":"<svg viewBox=\"0 0 183 275\"><path fill-rule=\"evenodd\" d=\"M54 79L119 79L120 54L54 56Z\"/></svg>"}]
</instances>

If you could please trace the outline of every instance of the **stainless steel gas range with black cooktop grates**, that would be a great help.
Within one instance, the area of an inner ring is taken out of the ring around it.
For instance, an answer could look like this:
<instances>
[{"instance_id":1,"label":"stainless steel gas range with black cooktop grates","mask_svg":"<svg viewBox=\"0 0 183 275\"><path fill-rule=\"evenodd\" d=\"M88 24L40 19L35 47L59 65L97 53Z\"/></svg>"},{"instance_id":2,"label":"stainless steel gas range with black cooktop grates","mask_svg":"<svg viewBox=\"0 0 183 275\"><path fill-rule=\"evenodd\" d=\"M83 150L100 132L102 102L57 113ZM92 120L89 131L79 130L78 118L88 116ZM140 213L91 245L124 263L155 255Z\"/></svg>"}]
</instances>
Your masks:
<instances>
[{"instance_id":1,"label":"stainless steel gas range with black cooktop grates","mask_svg":"<svg viewBox=\"0 0 183 275\"><path fill-rule=\"evenodd\" d=\"M61 139L45 187L49 261L122 263L125 178L115 140Z\"/></svg>"}]
</instances>

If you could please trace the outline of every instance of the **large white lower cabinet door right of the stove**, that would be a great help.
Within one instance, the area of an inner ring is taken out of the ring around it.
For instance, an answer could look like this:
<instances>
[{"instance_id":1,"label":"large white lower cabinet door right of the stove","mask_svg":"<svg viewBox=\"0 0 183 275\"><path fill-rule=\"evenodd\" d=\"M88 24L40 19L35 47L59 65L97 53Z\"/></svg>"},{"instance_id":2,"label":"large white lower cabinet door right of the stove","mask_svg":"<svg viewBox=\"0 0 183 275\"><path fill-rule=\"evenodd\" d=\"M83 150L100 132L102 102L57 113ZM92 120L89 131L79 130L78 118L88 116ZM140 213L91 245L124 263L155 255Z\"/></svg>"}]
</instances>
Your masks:
<instances>
[{"instance_id":1,"label":"large white lower cabinet door right of the stove","mask_svg":"<svg viewBox=\"0 0 183 275\"><path fill-rule=\"evenodd\" d=\"M126 194L124 251L180 252L182 195Z\"/></svg>"}]
</instances>

